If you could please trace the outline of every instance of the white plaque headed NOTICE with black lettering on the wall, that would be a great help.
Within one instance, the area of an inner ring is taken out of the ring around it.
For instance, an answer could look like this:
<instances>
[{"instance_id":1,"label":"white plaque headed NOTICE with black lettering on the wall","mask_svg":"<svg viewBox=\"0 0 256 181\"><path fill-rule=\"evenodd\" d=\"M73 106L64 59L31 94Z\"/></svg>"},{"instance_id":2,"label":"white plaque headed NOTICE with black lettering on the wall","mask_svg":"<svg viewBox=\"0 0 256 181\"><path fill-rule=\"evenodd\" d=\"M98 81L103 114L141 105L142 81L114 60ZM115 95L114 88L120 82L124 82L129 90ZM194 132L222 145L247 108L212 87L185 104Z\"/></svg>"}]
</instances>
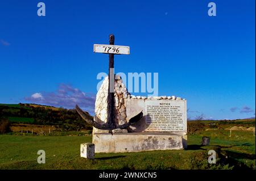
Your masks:
<instances>
[{"instance_id":1,"label":"white plaque headed NOTICE with black lettering on the wall","mask_svg":"<svg viewBox=\"0 0 256 181\"><path fill-rule=\"evenodd\" d=\"M187 132L185 100L145 100L146 131Z\"/></svg>"}]
</instances>

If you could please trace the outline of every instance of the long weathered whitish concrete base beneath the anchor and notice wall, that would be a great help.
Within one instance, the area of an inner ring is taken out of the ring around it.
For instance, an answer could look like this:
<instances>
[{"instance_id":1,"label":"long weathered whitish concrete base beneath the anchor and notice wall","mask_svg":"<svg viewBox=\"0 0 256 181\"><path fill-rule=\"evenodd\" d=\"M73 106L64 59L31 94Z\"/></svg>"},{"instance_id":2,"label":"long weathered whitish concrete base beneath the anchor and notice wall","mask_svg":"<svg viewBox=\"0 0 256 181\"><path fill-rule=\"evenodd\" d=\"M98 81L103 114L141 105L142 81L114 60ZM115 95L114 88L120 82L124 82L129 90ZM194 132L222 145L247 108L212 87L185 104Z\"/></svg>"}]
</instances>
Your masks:
<instances>
[{"instance_id":1,"label":"long weathered whitish concrete base beneath the anchor and notice wall","mask_svg":"<svg viewBox=\"0 0 256 181\"><path fill-rule=\"evenodd\" d=\"M95 153L122 153L187 148L187 135L169 132L94 133Z\"/></svg>"}]
</instances>

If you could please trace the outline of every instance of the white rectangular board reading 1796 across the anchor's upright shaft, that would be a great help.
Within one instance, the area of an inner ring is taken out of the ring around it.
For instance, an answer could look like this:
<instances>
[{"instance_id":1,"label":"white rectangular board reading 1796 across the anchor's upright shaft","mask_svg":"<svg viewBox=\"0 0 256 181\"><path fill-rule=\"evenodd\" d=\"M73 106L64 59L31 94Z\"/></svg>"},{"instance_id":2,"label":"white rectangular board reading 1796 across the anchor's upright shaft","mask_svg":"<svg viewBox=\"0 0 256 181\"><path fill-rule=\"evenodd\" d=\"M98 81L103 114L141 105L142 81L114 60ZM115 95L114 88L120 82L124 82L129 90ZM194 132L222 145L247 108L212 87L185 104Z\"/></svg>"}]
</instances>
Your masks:
<instances>
[{"instance_id":1,"label":"white rectangular board reading 1796 across the anchor's upright shaft","mask_svg":"<svg viewBox=\"0 0 256 181\"><path fill-rule=\"evenodd\" d=\"M119 45L94 44L93 52L95 52L95 53L113 53L113 54L130 54L130 47L119 46Z\"/></svg>"}]
</instances>

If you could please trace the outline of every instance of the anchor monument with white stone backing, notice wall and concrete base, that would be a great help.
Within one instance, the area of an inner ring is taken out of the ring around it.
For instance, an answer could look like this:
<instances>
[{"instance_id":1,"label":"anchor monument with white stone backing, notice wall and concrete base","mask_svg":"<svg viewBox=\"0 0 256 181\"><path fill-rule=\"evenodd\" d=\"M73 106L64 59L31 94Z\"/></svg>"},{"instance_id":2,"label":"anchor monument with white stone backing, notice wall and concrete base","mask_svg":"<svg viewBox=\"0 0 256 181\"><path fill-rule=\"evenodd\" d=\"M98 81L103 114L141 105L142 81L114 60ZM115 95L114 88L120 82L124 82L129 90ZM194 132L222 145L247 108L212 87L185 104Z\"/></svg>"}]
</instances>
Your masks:
<instances>
[{"instance_id":1,"label":"anchor monument with white stone backing, notice wall and concrete base","mask_svg":"<svg viewBox=\"0 0 256 181\"><path fill-rule=\"evenodd\" d=\"M187 148L187 100L176 96L131 95L119 75L113 74L114 54L129 54L130 48L94 45L94 52L109 54L109 75L96 95L94 120L76 106L93 125L95 153L118 153Z\"/></svg>"}]
</instances>

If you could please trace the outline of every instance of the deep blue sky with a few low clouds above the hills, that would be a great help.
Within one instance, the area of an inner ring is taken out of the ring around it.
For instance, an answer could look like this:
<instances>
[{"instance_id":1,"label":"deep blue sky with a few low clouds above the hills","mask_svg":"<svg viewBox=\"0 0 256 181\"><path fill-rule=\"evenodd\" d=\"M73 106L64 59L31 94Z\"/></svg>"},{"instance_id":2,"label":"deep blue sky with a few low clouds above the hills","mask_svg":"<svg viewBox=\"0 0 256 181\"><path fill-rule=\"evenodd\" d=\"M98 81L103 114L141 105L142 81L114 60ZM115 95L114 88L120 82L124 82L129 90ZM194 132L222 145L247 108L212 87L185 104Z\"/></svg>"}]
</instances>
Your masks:
<instances>
[{"instance_id":1,"label":"deep blue sky with a few low clouds above the hills","mask_svg":"<svg viewBox=\"0 0 256 181\"><path fill-rule=\"evenodd\" d=\"M115 56L115 72L158 73L159 95L187 99L191 118L255 116L254 0L44 0L40 17L38 2L0 2L0 103L36 103L39 93L72 107L75 95L92 111L96 76L108 71L93 44L114 33L131 49ZM208 16L209 2L217 16Z\"/></svg>"}]
</instances>

